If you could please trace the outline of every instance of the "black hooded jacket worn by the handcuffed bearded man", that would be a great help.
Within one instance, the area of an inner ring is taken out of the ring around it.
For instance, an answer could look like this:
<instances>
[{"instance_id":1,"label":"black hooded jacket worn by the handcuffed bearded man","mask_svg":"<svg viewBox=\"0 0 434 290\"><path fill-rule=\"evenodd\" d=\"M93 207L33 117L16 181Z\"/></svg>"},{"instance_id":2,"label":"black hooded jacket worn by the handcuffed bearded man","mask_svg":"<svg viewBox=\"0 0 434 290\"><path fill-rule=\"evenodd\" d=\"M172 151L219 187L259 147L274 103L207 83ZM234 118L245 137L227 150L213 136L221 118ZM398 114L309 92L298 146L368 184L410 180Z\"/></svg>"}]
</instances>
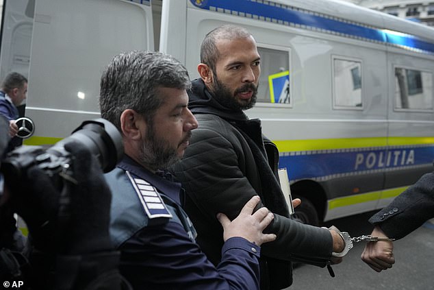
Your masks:
<instances>
[{"instance_id":1,"label":"black hooded jacket worn by the handcuffed bearded man","mask_svg":"<svg viewBox=\"0 0 434 290\"><path fill-rule=\"evenodd\" d=\"M202 80L193 82L189 108L199 121L190 146L174 168L187 196L185 209L198 232L197 242L214 264L220 261L222 227L217 213L234 219L253 196L275 213L264 232L277 240L262 245L261 287L281 289L292 283L291 260L325 266L332 252L329 230L288 218L277 177L277 147L263 138L261 124L241 111L223 107ZM282 272L284 271L284 272Z\"/></svg>"}]
</instances>

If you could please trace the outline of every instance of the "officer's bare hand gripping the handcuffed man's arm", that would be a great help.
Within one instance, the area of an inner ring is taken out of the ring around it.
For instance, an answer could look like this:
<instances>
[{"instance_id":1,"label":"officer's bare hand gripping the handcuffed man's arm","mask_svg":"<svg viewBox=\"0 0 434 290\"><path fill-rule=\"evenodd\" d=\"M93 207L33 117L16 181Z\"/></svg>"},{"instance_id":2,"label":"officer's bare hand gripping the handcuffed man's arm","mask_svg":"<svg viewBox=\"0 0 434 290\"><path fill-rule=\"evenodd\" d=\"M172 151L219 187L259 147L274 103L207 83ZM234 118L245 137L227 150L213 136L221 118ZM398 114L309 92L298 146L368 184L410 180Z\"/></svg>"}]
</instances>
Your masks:
<instances>
[{"instance_id":1,"label":"officer's bare hand gripping the handcuffed man's arm","mask_svg":"<svg viewBox=\"0 0 434 290\"><path fill-rule=\"evenodd\" d=\"M259 203L259 196L254 196L241 210L240 215L230 221L225 214L217 215L218 221L223 226L223 239L226 241L231 237L242 237L251 243L261 245L276 239L275 234L263 234L262 231L270 224L275 216L268 208L259 208L255 213L253 210ZM253 215L252 215L253 213Z\"/></svg>"}]
</instances>

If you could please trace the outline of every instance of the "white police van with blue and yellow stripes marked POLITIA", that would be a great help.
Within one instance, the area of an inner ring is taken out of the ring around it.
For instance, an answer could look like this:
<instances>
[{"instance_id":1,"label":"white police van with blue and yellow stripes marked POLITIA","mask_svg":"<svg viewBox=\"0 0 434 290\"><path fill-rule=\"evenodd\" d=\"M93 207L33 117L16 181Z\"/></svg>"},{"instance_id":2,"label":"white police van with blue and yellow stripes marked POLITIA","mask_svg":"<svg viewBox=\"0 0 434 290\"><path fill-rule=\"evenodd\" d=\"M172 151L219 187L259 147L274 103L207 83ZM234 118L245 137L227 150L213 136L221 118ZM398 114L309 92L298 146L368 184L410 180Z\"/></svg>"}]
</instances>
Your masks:
<instances>
[{"instance_id":1,"label":"white police van with blue and yellow stripes marked POLITIA","mask_svg":"<svg viewBox=\"0 0 434 290\"><path fill-rule=\"evenodd\" d=\"M5 0L0 77L28 76L29 145L99 117L99 79L121 51L159 50L196 78L205 34L257 41L257 105L300 221L382 208L432 171L434 29L337 0Z\"/></svg>"}]
</instances>

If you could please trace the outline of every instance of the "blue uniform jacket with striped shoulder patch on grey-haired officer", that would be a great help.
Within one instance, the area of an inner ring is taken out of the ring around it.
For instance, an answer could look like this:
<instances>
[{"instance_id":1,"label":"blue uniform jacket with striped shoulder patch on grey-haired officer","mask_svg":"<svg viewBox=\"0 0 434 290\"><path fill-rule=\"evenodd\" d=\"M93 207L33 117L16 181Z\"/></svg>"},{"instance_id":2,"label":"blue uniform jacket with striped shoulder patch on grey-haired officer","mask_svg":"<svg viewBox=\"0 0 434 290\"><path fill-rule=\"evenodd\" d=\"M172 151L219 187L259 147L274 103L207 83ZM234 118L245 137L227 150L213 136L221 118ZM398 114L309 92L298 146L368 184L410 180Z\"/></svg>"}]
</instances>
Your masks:
<instances>
[{"instance_id":1,"label":"blue uniform jacket with striped shoulder patch on grey-haired officer","mask_svg":"<svg viewBox=\"0 0 434 290\"><path fill-rule=\"evenodd\" d=\"M153 174L128 156L110 173L110 236L121 252L120 272L133 289L259 289L260 248L234 237L215 267L181 208L181 185Z\"/></svg>"}]
</instances>

